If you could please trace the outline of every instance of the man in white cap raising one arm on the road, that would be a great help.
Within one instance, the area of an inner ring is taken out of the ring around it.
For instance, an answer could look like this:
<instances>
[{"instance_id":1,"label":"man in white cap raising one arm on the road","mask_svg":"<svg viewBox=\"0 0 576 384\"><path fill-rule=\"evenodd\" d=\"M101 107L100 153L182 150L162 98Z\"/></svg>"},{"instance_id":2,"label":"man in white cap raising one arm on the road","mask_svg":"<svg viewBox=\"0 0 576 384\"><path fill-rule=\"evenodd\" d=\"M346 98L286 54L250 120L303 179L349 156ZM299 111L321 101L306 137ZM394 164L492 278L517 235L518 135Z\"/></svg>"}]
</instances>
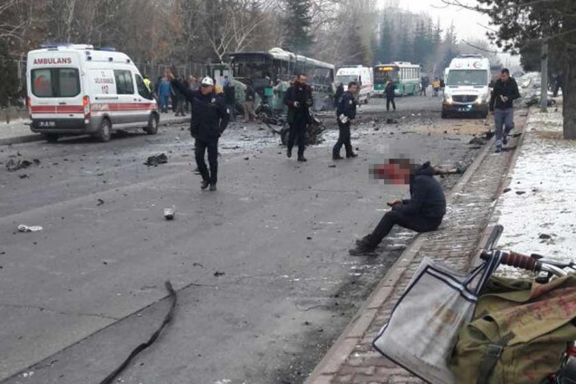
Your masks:
<instances>
[{"instance_id":1,"label":"man in white cap raising one arm on the road","mask_svg":"<svg viewBox=\"0 0 576 384\"><path fill-rule=\"evenodd\" d=\"M202 79L199 91L192 91L188 86L178 82L172 73L168 73L172 86L186 97L191 103L190 133L195 139L195 158L198 171L202 175L201 188L208 186L216 191L218 181L218 139L226 130L230 120L230 111L226 108L224 100L214 93L214 80L211 77ZM206 167L204 154L208 149L208 163Z\"/></svg>"}]
</instances>

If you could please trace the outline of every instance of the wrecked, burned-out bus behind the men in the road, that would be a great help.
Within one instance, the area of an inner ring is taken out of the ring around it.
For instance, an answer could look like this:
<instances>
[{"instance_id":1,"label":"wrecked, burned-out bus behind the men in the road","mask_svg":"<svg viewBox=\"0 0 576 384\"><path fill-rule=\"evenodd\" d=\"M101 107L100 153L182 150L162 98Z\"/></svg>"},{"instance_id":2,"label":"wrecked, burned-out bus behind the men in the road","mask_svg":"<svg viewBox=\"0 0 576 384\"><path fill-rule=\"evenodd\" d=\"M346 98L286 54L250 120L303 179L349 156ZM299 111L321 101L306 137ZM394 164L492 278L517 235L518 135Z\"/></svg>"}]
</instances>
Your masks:
<instances>
[{"instance_id":1,"label":"wrecked, burned-out bus behind the men in the road","mask_svg":"<svg viewBox=\"0 0 576 384\"><path fill-rule=\"evenodd\" d=\"M230 53L232 77L250 84L275 112L285 110L283 97L289 82L298 73L308 76L308 84L313 88L315 110L333 108L334 65L284 49L274 48L267 52Z\"/></svg>"}]
</instances>

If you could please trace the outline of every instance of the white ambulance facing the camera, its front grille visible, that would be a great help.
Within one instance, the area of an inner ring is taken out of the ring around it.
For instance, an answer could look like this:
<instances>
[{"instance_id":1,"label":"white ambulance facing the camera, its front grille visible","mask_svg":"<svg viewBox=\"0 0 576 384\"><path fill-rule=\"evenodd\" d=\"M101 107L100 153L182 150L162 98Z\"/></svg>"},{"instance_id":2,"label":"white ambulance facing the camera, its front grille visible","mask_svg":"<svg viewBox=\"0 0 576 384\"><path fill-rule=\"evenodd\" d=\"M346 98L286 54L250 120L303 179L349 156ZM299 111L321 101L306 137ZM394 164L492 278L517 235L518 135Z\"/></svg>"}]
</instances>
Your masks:
<instances>
[{"instance_id":1,"label":"white ambulance facing the camera, its front grille visible","mask_svg":"<svg viewBox=\"0 0 576 384\"><path fill-rule=\"evenodd\" d=\"M442 118L453 113L488 116L490 102L490 60L481 55L453 58L444 72L446 88Z\"/></svg>"}]
</instances>

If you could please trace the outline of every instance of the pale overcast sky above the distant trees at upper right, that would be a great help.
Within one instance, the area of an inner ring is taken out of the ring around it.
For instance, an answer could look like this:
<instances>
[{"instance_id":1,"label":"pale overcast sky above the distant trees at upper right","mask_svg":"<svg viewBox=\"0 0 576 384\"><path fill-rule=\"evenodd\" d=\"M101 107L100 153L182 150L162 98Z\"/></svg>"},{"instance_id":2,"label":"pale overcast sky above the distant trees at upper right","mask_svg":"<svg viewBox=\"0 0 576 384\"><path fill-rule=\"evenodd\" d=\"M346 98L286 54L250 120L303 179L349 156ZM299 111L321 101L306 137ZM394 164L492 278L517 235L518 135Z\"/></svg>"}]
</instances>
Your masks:
<instances>
[{"instance_id":1,"label":"pale overcast sky above the distant trees at upper right","mask_svg":"<svg viewBox=\"0 0 576 384\"><path fill-rule=\"evenodd\" d=\"M385 2L385 0L379 1L381 4ZM476 5L475 0L461 2ZM483 14L453 5L446 6L441 0L400 0L400 8L412 12L427 12L434 21L440 18L440 23L444 29L454 22L458 38L465 38L466 40L485 38L486 29L477 24L488 25L488 18Z\"/></svg>"}]
</instances>

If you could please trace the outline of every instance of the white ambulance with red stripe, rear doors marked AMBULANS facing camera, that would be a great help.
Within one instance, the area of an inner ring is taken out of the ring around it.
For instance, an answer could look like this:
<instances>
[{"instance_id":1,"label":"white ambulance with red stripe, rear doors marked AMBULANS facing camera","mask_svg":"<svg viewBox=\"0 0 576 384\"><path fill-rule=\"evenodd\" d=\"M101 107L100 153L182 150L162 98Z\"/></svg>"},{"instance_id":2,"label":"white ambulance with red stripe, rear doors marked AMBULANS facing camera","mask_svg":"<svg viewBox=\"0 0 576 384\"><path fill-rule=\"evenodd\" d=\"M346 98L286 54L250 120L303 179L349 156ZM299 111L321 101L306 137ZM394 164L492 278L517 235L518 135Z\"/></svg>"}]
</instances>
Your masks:
<instances>
[{"instance_id":1,"label":"white ambulance with red stripe, rear doors marked AMBULANS facing camera","mask_svg":"<svg viewBox=\"0 0 576 384\"><path fill-rule=\"evenodd\" d=\"M110 140L114 129L158 132L158 106L128 56L92 45L29 51L28 109L32 132L48 141L69 134Z\"/></svg>"}]
</instances>

